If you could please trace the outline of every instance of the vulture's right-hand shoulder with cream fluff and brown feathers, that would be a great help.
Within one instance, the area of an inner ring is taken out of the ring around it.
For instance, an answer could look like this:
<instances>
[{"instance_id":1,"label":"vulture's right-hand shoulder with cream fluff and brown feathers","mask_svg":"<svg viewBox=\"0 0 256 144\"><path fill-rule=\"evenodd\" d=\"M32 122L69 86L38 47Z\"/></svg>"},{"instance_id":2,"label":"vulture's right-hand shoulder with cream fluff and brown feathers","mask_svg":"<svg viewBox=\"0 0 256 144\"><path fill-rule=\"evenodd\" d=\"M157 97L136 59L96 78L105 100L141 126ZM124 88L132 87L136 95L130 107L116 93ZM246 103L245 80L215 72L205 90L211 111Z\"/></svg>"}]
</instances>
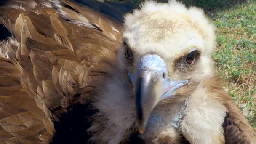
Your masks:
<instances>
[{"instance_id":1,"label":"vulture's right-hand shoulder with cream fluff and brown feathers","mask_svg":"<svg viewBox=\"0 0 256 144\"><path fill-rule=\"evenodd\" d=\"M186 100L180 123L190 143L256 144L256 132L223 89L219 76L206 78L198 87Z\"/></svg>"}]
</instances>

